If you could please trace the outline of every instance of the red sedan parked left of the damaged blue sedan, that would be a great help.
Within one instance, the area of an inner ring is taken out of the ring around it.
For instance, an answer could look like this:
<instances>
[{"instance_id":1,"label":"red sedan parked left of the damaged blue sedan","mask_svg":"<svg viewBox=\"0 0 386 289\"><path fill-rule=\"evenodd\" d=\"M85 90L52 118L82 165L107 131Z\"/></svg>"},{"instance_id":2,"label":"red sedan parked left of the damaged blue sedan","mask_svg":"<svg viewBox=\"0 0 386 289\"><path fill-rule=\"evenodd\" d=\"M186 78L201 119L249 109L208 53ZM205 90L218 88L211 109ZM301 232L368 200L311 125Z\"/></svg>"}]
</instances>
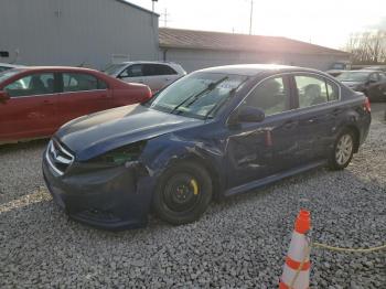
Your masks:
<instances>
[{"instance_id":1,"label":"red sedan parked left of the damaged blue sedan","mask_svg":"<svg viewBox=\"0 0 386 289\"><path fill-rule=\"evenodd\" d=\"M128 84L78 67L21 67L0 73L0 143L49 137L79 116L151 97Z\"/></svg>"}]
</instances>

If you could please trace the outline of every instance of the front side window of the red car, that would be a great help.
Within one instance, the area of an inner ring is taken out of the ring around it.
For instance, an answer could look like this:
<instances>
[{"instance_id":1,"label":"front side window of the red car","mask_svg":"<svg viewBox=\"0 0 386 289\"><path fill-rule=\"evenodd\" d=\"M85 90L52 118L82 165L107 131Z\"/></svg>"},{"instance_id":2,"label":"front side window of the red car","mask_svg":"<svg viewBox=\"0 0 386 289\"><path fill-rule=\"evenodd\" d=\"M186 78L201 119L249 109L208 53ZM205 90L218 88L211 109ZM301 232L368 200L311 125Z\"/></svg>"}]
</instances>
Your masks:
<instances>
[{"instance_id":1,"label":"front side window of the red car","mask_svg":"<svg viewBox=\"0 0 386 289\"><path fill-rule=\"evenodd\" d=\"M53 94L54 74L42 73L22 77L4 87L10 97Z\"/></svg>"}]
</instances>

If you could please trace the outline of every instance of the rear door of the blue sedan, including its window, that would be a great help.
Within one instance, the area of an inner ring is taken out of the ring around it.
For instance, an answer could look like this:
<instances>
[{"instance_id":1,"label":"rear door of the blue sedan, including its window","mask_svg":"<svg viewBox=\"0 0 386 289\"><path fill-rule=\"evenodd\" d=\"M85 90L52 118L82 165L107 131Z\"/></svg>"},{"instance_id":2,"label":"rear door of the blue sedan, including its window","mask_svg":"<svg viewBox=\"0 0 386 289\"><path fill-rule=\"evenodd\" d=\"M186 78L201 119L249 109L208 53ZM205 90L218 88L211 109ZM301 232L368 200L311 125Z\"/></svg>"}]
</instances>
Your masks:
<instances>
[{"instance_id":1,"label":"rear door of the blue sedan, including its window","mask_svg":"<svg viewBox=\"0 0 386 289\"><path fill-rule=\"evenodd\" d=\"M344 115L339 86L319 74L293 74L296 114L301 158L299 163L324 159L333 142L334 129Z\"/></svg>"}]
</instances>

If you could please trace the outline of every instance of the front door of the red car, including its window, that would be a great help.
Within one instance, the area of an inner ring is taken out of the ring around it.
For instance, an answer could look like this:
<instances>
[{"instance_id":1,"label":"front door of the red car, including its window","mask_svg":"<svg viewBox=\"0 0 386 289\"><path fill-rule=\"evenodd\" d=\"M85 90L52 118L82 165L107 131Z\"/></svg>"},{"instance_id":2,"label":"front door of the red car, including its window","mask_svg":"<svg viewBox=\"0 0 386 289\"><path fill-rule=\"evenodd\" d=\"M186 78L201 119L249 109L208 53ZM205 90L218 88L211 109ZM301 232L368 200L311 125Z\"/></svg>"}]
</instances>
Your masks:
<instances>
[{"instance_id":1,"label":"front door of the red car, including its window","mask_svg":"<svg viewBox=\"0 0 386 289\"><path fill-rule=\"evenodd\" d=\"M0 139L52 135L58 127L54 73L23 76L3 87L10 99L0 103Z\"/></svg>"}]
</instances>

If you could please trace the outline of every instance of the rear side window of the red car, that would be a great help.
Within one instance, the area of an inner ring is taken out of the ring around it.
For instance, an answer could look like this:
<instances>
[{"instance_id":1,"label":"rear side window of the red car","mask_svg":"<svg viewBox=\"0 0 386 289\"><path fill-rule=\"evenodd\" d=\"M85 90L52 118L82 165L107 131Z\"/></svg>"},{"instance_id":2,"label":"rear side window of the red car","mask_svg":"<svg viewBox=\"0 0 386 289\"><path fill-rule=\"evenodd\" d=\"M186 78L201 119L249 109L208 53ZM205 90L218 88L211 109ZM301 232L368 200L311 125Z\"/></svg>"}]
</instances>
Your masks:
<instances>
[{"instance_id":1,"label":"rear side window of the red car","mask_svg":"<svg viewBox=\"0 0 386 289\"><path fill-rule=\"evenodd\" d=\"M86 73L63 73L63 92L87 92L105 89L107 85Z\"/></svg>"}]
</instances>

